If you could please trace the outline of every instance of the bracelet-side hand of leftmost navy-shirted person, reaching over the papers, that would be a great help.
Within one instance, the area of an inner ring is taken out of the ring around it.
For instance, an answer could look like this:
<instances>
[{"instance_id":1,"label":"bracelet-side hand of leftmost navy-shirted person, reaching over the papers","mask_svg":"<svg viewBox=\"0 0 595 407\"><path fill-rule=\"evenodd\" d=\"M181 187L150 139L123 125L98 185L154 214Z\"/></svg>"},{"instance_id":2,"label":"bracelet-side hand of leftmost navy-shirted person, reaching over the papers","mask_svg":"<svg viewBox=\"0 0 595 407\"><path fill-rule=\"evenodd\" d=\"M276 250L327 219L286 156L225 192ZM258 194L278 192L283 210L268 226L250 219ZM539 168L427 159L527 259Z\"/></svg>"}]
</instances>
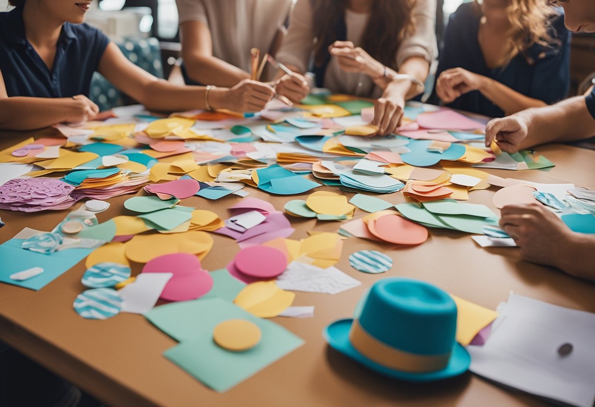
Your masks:
<instances>
[{"instance_id":1,"label":"bracelet-side hand of leftmost navy-shirted person, reaching over the papers","mask_svg":"<svg viewBox=\"0 0 595 407\"><path fill-rule=\"evenodd\" d=\"M240 113L261 111L275 95L275 89L269 84L250 79L244 79L231 89L225 89L223 95L213 90L209 93L209 96L214 96L212 107ZM220 95L221 98L218 97Z\"/></svg>"}]
</instances>

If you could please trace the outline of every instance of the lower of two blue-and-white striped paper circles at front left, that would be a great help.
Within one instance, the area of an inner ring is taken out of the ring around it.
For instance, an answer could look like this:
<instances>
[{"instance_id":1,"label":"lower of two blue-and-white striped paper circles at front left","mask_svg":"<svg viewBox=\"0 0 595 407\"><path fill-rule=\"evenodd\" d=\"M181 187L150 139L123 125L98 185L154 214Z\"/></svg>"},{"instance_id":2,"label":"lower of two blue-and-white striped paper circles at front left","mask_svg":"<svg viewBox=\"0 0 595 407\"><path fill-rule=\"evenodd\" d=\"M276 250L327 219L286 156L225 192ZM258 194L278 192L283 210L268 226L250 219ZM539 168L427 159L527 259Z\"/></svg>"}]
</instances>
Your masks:
<instances>
[{"instance_id":1,"label":"lower of two blue-and-white striped paper circles at front left","mask_svg":"<svg viewBox=\"0 0 595 407\"><path fill-rule=\"evenodd\" d=\"M92 289L80 293L74 300L74 311L89 320L107 320L120 313L122 299L113 289Z\"/></svg>"}]
</instances>

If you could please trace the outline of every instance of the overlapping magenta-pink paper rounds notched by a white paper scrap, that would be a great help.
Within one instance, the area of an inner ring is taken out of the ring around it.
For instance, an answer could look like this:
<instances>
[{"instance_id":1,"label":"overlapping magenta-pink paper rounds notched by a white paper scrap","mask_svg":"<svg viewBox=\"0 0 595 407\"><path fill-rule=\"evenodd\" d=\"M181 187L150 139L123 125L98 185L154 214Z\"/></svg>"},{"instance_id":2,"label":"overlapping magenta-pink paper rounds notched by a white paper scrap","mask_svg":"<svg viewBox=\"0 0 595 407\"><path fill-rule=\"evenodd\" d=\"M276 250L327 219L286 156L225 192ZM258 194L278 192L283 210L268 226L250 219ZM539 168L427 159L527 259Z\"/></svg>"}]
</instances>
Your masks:
<instances>
[{"instance_id":1,"label":"overlapping magenta-pink paper rounds notched by a white paper scrap","mask_svg":"<svg viewBox=\"0 0 595 407\"><path fill-rule=\"evenodd\" d=\"M173 273L159 298L187 301L200 298L213 287L213 278L203 270L201 261L189 253L159 256L145 264L143 273Z\"/></svg>"}]
</instances>

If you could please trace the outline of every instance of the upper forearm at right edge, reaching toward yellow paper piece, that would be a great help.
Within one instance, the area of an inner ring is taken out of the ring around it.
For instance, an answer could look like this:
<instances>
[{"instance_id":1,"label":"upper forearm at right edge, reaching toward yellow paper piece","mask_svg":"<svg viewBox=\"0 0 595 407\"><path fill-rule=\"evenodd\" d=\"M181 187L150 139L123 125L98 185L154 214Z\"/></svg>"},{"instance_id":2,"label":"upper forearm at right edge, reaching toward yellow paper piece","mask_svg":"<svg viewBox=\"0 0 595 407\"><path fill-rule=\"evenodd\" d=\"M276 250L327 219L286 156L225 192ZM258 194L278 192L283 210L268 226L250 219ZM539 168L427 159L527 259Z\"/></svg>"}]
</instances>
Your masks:
<instances>
[{"instance_id":1,"label":"upper forearm at right edge, reaching toward yellow paper piece","mask_svg":"<svg viewBox=\"0 0 595 407\"><path fill-rule=\"evenodd\" d=\"M552 142L583 140L595 134L595 119L587 109L584 96L566 99L555 105L531 108L513 114L527 123L528 134L520 149Z\"/></svg>"}]
</instances>

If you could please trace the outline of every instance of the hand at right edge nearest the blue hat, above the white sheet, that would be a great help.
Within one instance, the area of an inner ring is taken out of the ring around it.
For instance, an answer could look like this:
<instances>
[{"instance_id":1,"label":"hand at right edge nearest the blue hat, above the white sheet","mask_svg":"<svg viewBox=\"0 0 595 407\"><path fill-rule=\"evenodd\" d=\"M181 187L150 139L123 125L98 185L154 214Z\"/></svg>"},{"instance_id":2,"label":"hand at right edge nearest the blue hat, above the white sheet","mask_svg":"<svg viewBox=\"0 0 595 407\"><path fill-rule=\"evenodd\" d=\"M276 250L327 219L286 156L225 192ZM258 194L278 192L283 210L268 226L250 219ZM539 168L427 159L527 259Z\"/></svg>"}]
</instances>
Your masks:
<instances>
[{"instance_id":1,"label":"hand at right edge nearest the blue hat, above the white sheet","mask_svg":"<svg viewBox=\"0 0 595 407\"><path fill-rule=\"evenodd\" d=\"M574 232L541 204L509 205L500 210L500 227L515 240L523 259L563 268L565 245Z\"/></svg>"}]
</instances>

